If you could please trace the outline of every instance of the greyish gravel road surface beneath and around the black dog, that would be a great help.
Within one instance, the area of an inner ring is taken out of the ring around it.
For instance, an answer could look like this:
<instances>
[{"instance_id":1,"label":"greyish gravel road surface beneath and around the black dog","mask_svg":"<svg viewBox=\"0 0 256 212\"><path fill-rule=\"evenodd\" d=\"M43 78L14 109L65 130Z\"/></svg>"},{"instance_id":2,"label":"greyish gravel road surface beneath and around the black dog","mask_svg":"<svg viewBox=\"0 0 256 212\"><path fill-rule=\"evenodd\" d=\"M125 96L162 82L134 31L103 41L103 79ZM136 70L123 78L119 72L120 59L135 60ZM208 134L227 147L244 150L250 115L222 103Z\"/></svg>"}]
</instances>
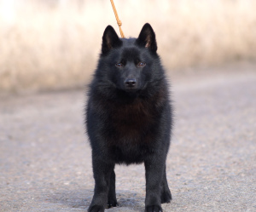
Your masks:
<instances>
[{"instance_id":1,"label":"greyish gravel road surface beneath and around the black dog","mask_svg":"<svg viewBox=\"0 0 256 212\"><path fill-rule=\"evenodd\" d=\"M165 211L256 211L256 66L172 76ZM84 91L0 99L0 211L86 211L93 195ZM117 166L119 207L144 209L143 165Z\"/></svg>"}]
</instances>

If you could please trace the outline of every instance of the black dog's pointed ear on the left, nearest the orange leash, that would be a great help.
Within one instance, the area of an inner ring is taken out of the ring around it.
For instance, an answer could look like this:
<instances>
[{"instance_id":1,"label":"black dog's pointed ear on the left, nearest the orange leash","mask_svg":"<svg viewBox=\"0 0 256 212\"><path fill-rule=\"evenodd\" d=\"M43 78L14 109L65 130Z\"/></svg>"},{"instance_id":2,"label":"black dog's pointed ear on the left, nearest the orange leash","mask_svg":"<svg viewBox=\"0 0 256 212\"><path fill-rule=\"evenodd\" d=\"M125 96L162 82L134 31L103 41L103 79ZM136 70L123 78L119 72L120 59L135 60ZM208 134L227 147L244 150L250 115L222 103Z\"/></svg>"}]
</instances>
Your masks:
<instances>
[{"instance_id":1,"label":"black dog's pointed ear on the left, nearest the orange leash","mask_svg":"<svg viewBox=\"0 0 256 212\"><path fill-rule=\"evenodd\" d=\"M110 49L117 48L121 46L122 43L113 27L108 25L102 37L102 54L108 54Z\"/></svg>"}]
</instances>

